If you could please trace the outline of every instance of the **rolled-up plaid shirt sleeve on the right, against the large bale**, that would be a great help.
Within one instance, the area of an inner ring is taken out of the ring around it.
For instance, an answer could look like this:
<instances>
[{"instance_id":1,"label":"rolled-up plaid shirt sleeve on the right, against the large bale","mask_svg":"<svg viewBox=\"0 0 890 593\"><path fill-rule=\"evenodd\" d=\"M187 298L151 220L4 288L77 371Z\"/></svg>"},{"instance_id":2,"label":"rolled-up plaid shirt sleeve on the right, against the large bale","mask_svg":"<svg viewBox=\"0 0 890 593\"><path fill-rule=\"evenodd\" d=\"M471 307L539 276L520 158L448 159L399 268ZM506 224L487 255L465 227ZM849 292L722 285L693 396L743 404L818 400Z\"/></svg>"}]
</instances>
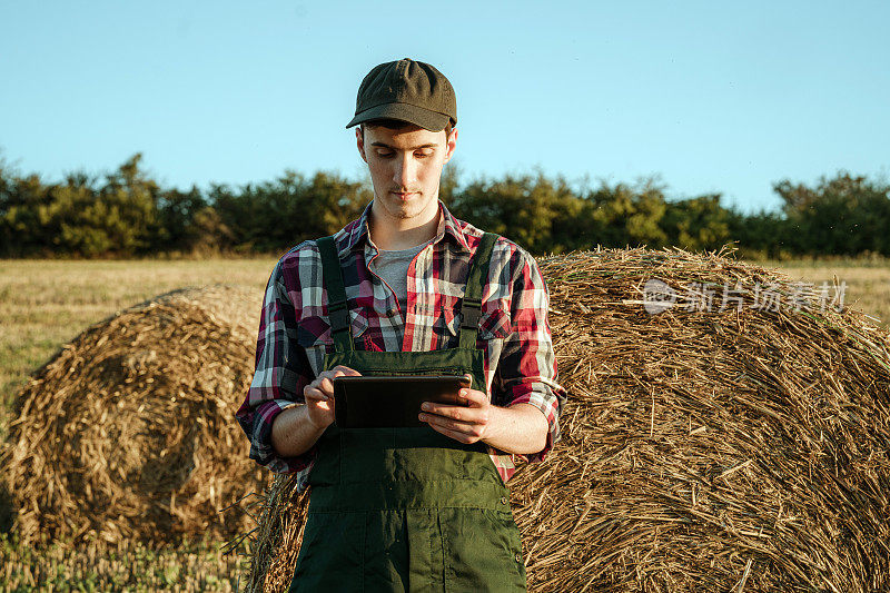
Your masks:
<instances>
[{"instance_id":1,"label":"rolled-up plaid shirt sleeve on the right, against the large bale","mask_svg":"<svg viewBox=\"0 0 890 593\"><path fill-rule=\"evenodd\" d=\"M514 454L520 459L541 462L560 439L560 412L566 392L556 382L547 285L537 263L524 249L516 248L512 259L511 332L504 339L494 380L503 394L498 405L532 404L546 417L544 448L530 455Z\"/></svg>"}]
</instances>

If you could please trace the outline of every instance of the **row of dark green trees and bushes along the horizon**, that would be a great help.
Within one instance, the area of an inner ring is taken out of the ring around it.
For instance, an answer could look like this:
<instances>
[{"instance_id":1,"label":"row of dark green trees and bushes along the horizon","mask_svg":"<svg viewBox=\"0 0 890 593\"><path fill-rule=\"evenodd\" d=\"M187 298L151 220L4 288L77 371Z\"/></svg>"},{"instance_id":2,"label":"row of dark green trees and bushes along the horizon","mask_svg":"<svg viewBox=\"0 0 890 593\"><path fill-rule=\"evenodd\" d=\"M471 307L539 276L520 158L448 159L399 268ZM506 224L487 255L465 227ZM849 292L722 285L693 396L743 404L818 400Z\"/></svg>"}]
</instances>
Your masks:
<instances>
[{"instance_id":1,"label":"row of dark green trees and bushes along the horizon","mask_svg":"<svg viewBox=\"0 0 890 593\"><path fill-rule=\"evenodd\" d=\"M287 169L273 181L160 187L136 154L103 176L43 182L0 162L0 257L281 254L355 219L368 180ZM839 171L808 186L773 184L778 210L745 214L720 194L669 199L654 179L572 187L543 172L463 181L452 165L439 197L458 217L535 255L602 247L735 245L751 258L890 256L890 185Z\"/></svg>"}]
</instances>

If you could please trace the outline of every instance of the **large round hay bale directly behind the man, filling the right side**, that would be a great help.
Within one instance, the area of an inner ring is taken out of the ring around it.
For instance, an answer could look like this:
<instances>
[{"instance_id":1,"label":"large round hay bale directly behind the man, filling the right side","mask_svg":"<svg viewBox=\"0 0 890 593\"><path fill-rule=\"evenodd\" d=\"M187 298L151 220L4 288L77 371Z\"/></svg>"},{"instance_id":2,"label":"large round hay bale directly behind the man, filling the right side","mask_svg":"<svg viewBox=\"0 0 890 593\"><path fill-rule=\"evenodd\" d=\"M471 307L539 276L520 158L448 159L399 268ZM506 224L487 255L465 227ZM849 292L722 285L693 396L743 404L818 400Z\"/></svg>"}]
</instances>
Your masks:
<instances>
[{"instance_id":1,"label":"large round hay bale directly behind the man, filling the right side","mask_svg":"<svg viewBox=\"0 0 890 593\"><path fill-rule=\"evenodd\" d=\"M890 589L886 330L723 253L538 263L570 398L508 483L530 590ZM265 494L251 591L289 584L291 482Z\"/></svg>"}]
</instances>

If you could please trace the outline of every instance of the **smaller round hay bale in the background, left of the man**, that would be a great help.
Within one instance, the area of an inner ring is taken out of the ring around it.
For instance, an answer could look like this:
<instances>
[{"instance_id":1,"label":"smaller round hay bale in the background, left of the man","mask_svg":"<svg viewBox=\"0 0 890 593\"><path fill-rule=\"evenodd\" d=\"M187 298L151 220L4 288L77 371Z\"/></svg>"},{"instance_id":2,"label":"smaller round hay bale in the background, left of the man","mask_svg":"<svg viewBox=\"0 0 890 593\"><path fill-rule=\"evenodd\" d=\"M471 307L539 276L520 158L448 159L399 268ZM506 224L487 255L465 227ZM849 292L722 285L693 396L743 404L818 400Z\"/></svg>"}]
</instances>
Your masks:
<instances>
[{"instance_id":1,"label":"smaller round hay bale in the background, left of the man","mask_svg":"<svg viewBox=\"0 0 890 593\"><path fill-rule=\"evenodd\" d=\"M235 411L261 291L186 288L93 325L19 393L0 467L27 542L229 537L265 472Z\"/></svg>"}]
</instances>

